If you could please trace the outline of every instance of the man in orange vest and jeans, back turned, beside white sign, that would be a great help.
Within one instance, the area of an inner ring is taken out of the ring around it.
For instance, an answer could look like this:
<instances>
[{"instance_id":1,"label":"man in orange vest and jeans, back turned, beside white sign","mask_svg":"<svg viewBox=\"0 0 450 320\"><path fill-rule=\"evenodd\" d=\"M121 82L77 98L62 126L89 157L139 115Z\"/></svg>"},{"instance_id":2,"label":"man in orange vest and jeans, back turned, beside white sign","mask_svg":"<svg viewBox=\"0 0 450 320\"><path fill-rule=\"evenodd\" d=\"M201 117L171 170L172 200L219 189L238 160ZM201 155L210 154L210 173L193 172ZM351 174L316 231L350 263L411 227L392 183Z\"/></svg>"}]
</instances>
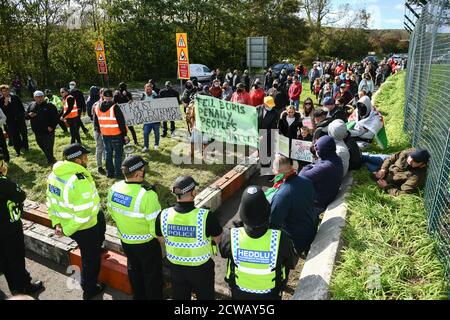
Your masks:
<instances>
[{"instance_id":1,"label":"man in orange vest and jeans, back turned, beside white sign","mask_svg":"<svg viewBox=\"0 0 450 320\"><path fill-rule=\"evenodd\" d=\"M122 110L113 102L113 92L103 91L103 101L95 108L94 128L99 130L105 143L106 171L108 178L123 179L121 172L123 146L130 142ZM114 157L114 163L113 163Z\"/></svg>"}]
</instances>

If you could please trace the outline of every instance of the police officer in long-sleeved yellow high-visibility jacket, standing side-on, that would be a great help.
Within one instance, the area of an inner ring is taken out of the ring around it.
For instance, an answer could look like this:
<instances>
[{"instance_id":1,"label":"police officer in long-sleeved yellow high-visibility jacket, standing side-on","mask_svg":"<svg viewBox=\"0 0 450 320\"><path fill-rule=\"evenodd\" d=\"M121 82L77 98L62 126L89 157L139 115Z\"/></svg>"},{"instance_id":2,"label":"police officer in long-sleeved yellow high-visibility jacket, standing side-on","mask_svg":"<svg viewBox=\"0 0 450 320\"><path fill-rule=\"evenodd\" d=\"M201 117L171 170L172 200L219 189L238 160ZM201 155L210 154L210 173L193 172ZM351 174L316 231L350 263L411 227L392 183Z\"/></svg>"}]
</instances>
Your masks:
<instances>
[{"instance_id":1,"label":"police officer in long-sleeved yellow high-visibility jacket, standing side-on","mask_svg":"<svg viewBox=\"0 0 450 320\"><path fill-rule=\"evenodd\" d=\"M55 234L71 237L80 249L84 300L104 289L97 278L106 224L94 179L87 170L89 153L79 143L66 146L66 160L55 163L47 179L47 207Z\"/></svg>"}]
</instances>

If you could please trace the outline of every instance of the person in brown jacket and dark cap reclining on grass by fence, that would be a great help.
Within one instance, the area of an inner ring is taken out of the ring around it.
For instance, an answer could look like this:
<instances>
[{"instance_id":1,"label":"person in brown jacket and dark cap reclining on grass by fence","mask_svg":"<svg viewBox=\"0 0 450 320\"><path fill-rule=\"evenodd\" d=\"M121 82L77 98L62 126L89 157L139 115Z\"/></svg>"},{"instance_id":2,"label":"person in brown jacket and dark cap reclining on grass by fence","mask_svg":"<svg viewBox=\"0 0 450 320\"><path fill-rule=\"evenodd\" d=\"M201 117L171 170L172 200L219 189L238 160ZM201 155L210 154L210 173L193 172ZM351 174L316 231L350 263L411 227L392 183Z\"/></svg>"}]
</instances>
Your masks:
<instances>
[{"instance_id":1,"label":"person in brown jacket and dark cap reclining on grass by fence","mask_svg":"<svg viewBox=\"0 0 450 320\"><path fill-rule=\"evenodd\" d=\"M430 154L410 148L391 156L363 153L362 160L378 186L392 196L414 193L425 184Z\"/></svg>"}]
</instances>

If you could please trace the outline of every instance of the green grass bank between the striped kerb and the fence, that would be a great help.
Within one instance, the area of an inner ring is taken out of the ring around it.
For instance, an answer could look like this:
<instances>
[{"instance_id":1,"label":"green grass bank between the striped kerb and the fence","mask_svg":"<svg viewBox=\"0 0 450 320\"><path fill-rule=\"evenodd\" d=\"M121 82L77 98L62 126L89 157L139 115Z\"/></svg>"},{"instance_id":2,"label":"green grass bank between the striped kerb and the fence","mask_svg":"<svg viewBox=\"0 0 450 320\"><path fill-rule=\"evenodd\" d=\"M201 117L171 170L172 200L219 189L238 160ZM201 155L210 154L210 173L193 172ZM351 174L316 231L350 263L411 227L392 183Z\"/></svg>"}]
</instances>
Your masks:
<instances>
[{"instance_id":1,"label":"green grass bank between the striped kerb and the fence","mask_svg":"<svg viewBox=\"0 0 450 320\"><path fill-rule=\"evenodd\" d=\"M403 133L404 92L405 73L400 73L387 80L376 98L389 139L383 153L409 147ZM372 146L371 151L381 150ZM353 178L332 299L446 299L448 284L427 233L422 195L389 196L365 168Z\"/></svg>"}]
</instances>

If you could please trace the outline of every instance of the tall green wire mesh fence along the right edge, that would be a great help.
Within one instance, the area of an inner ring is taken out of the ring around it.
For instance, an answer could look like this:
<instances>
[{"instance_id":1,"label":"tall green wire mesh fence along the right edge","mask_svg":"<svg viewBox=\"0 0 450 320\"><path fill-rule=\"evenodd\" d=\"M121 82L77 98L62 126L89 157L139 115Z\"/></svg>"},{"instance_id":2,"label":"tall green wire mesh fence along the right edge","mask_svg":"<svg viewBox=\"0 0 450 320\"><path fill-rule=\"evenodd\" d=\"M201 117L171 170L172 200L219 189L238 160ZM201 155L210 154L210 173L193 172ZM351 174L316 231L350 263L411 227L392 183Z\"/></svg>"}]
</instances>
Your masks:
<instances>
[{"instance_id":1,"label":"tall green wire mesh fence along the right edge","mask_svg":"<svg viewBox=\"0 0 450 320\"><path fill-rule=\"evenodd\" d=\"M425 187L429 231L450 276L450 1L431 0L411 34L405 131L431 154Z\"/></svg>"}]
</instances>

